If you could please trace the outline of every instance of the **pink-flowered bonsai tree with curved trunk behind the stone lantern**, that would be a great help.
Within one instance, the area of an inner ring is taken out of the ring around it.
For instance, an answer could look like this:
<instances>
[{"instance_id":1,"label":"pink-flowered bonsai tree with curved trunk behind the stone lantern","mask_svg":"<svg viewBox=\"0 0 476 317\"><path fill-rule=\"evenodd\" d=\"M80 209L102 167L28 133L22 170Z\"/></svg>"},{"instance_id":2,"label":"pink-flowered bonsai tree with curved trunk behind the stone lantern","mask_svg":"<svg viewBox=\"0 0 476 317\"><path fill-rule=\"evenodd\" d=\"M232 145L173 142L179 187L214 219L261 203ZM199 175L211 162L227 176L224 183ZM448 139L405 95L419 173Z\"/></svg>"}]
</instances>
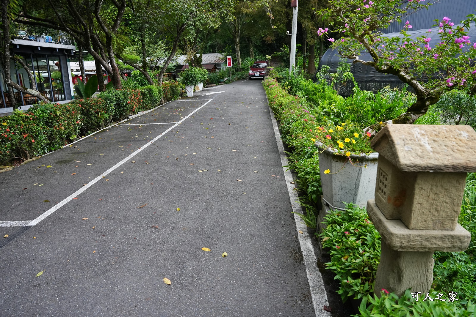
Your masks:
<instances>
[{"instance_id":1,"label":"pink-flowered bonsai tree with curved trunk behind the stone lantern","mask_svg":"<svg viewBox=\"0 0 476 317\"><path fill-rule=\"evenodd\" d=\"M457 89L476 94L476 43L471 44L467 36L470 23L476 21L475 15L468 15L459 25L442 17L418 37L412 36L409 20L398 36L383 36L379 31L391 22L405 21L409 14L428 8L430 4L423 1L408 0L402 4L401 0L329 0L328 9L318 12L324 18L334 19L333 31L343 34L339 39L328 38L333 42L331 48L337 48L342 57L395 75L415 90L416 102L392 120L395 124L414 123L445 91ZM327 32L319 29L317 35ZM437 43L432 41L430 45L431 38L438 38ZM362 53L368 53L369 58L363 58ZM371 132L375 133L377 127L371 126Z\"/></svg>"}]
</instances>

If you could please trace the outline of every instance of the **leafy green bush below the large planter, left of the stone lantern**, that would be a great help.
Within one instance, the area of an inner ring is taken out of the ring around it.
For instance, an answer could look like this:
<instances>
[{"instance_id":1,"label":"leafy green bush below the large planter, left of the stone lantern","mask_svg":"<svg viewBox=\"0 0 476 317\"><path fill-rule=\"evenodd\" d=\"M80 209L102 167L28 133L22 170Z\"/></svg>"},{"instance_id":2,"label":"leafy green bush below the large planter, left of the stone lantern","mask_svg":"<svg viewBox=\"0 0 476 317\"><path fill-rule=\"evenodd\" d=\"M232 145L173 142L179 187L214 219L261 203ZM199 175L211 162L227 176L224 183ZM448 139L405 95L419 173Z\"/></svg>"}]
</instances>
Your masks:
<instances>
[{"instance_id":1,"label":"leafy green bush below the large planter, left of the stone lantern","mask_svg":"<svg viewBox=\"0 0 476 317\"><path fill-rule=\"evenodd\" d=\"M323 221L327 228L320 234L322 245L330 249L327 269L340 281L337 293L362 298L374 291L375 274L380 260L380 234L368 220L367 211L348 204L345 211L330 211Z\"/></svg>"}]
</instances>

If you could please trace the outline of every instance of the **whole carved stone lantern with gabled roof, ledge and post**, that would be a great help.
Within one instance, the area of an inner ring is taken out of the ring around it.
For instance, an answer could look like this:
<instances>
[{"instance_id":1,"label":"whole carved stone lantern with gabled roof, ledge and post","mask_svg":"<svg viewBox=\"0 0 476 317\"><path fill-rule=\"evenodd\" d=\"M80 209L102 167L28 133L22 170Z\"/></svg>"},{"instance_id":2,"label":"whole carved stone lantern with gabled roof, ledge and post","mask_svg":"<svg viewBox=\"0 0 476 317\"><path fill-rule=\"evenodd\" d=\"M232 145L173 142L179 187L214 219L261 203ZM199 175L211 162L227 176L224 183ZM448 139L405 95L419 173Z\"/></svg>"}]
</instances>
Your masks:
<instances>
[{"instance_id":1,"label":"whole carved stone lantern with gabled roof, ledge and post","mask_svg":"<svg viewBox=\"0 0 476 317\"><path fill-rule=\"evenodd\" d=\"M374 292L425 294L434 251L464 251L471 234L457 223L467 172L476 171L476 132L467 125L386 125L375 199L367 213L382 237Z\"/></svg>"}]
</instances>

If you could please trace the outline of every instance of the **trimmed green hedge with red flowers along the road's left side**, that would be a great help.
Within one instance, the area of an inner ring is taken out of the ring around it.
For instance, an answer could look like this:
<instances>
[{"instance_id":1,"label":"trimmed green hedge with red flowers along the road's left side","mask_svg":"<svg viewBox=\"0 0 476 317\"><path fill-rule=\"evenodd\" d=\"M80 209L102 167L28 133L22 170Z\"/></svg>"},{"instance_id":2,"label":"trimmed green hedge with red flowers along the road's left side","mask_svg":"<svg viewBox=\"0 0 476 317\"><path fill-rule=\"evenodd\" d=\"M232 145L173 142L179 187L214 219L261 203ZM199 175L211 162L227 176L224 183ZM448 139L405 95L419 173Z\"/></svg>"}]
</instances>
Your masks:
<instances>
[{"instance_id":1,"label":"trimmed green hedge with red flowers along the road's left side","mask_svg":"<svg viewBox=\"0 0 476 317\"><path fill-rule=\"evenodd\" d=\"M0 118L0 162L29 159L56 150L79 135L87 135L112 121L124 120L138 111L160 105L166 87L168 98L179 95L177 82L138 89L111 89L97 97L76 99L67 104L42 103L28 111L15 111ZM166 98L167 98L166 97Z\"/></svg>"}]
</instances>

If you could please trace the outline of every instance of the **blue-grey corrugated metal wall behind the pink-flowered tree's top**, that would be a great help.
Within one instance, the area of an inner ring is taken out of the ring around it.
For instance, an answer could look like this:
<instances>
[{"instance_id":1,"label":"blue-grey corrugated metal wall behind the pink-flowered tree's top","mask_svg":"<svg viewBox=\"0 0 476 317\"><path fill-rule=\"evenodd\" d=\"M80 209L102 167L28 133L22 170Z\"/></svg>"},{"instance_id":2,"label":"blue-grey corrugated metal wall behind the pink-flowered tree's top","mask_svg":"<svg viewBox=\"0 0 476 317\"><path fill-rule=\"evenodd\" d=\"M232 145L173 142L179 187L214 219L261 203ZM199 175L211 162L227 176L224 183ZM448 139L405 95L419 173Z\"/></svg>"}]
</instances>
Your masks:
<instances>
[{"instance_id":1,"label":"blue-grey corrugated metal wall behind the pink-flowered tree's top","mask_svg":"<svg viewBox=\"0 0 476 317\"><path fill-rule=\"evenodd\" d=\"M433 3L428 10L423 9L410 14L402 22L391 23L384 33L400 32L408 20L413 26L411 30L430 29L435 24L433 20L448 17L451 22L459 24L468 14L476 14L476 0L426 0Z\"/></svg>"}]
</instances>

